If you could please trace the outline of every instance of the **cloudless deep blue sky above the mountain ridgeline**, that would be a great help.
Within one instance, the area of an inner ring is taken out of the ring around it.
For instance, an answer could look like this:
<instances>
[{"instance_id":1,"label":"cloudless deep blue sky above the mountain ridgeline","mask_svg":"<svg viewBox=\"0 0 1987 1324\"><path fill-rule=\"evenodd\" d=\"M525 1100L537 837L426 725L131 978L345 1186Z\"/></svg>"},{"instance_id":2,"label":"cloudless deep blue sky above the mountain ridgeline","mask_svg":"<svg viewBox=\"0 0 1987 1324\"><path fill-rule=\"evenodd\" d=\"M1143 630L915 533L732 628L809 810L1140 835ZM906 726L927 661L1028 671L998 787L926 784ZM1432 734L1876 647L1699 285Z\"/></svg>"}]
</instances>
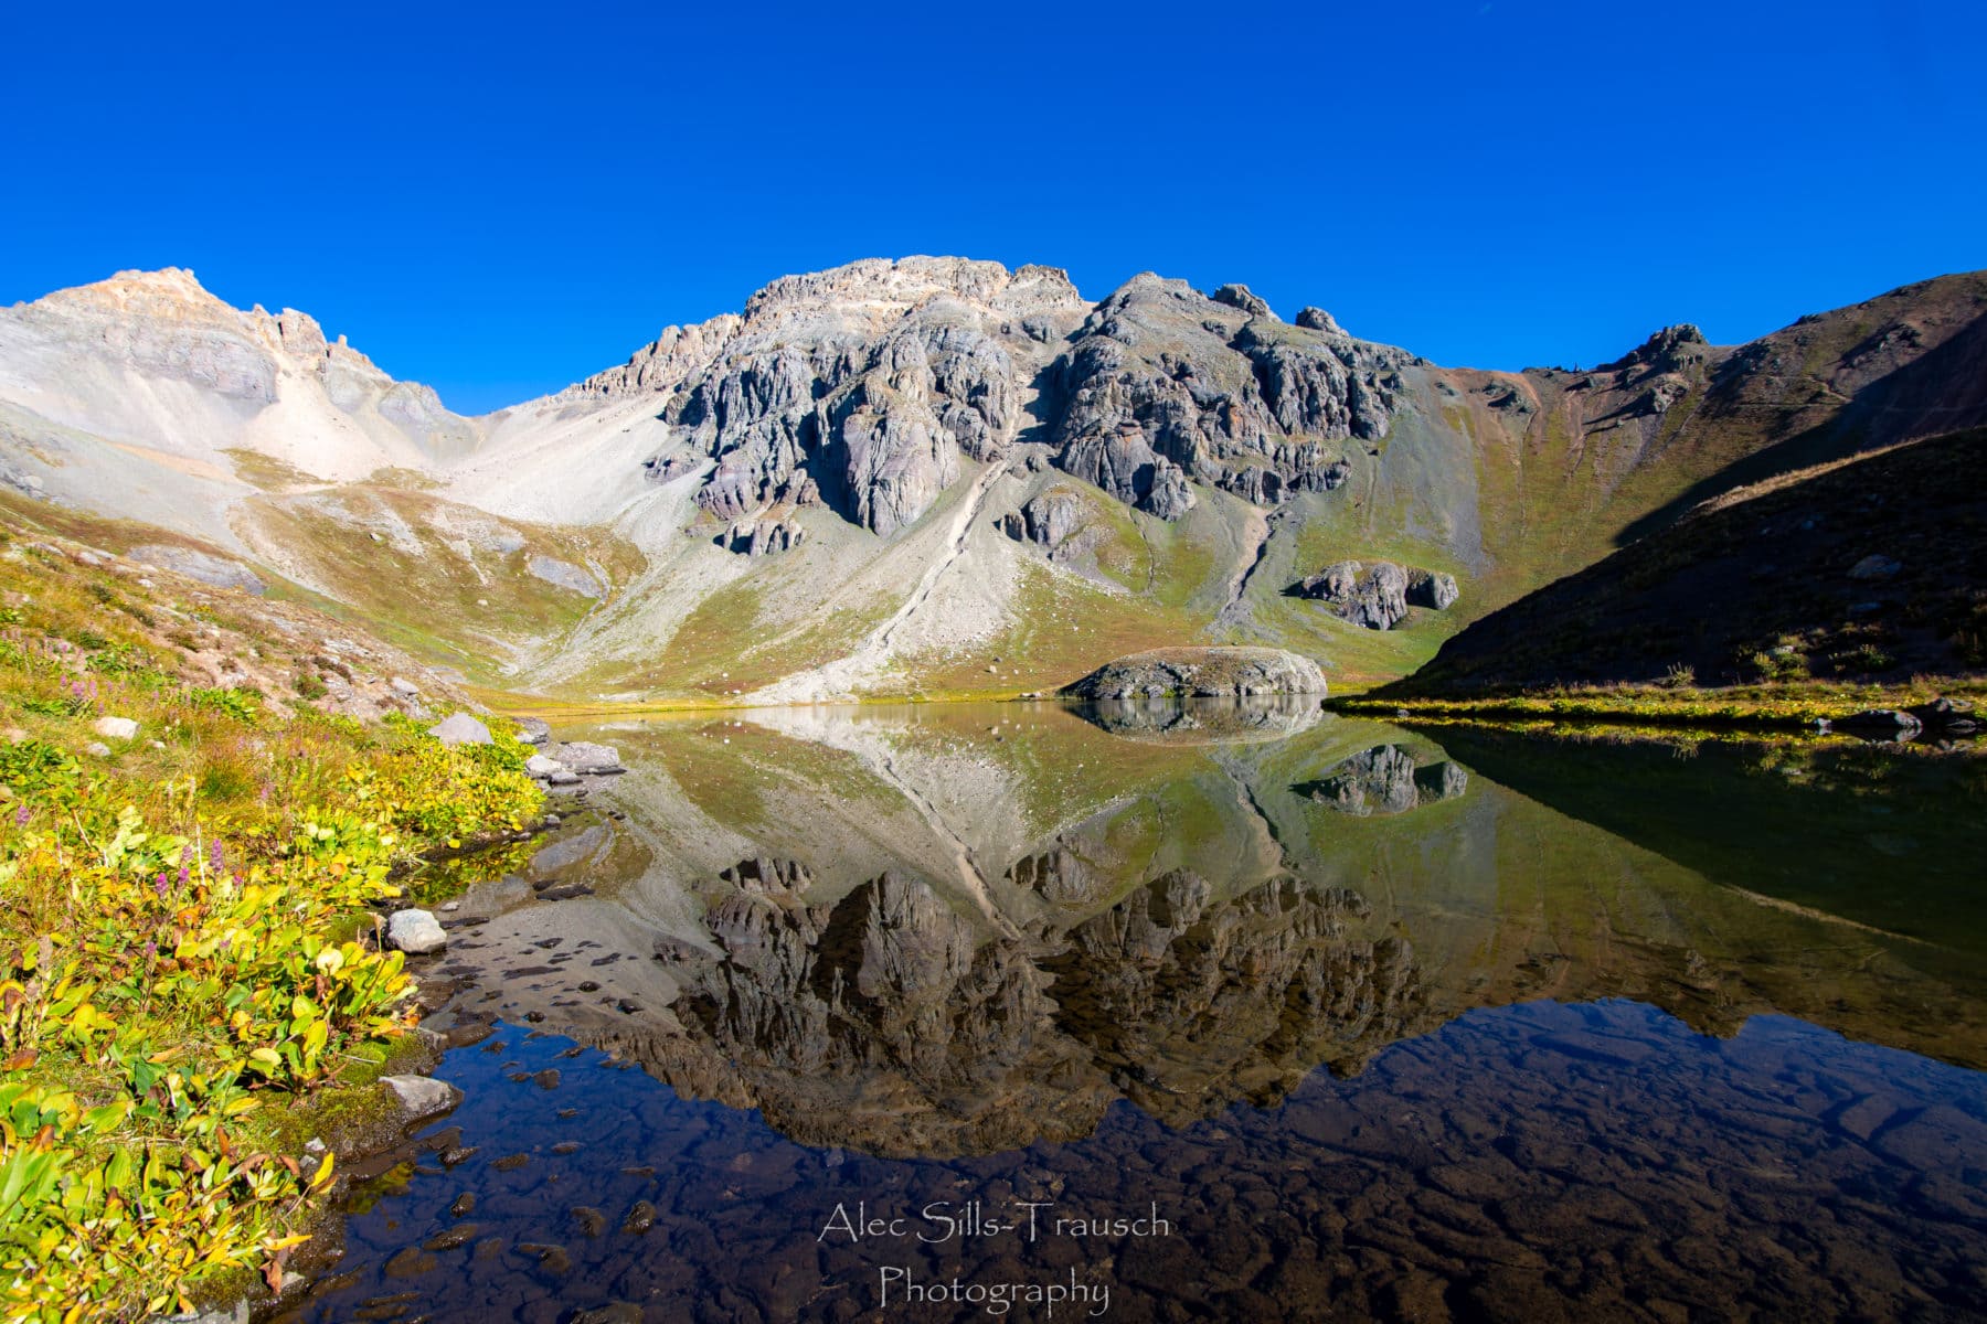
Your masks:
<instances>
[{"instance_id":1,"label":"cloudless deep blue sky above the mountain ridgeline","mask_svg":"<svg viewBox=\"0 0 1987 1324\"><path fill-rule=\"evenodd\" d=\"M1441 363L1987 266L1987 6L0 6L0 304L191 266L493 409L773 276L1240 280Z\"/></svg>"}]
</instances>

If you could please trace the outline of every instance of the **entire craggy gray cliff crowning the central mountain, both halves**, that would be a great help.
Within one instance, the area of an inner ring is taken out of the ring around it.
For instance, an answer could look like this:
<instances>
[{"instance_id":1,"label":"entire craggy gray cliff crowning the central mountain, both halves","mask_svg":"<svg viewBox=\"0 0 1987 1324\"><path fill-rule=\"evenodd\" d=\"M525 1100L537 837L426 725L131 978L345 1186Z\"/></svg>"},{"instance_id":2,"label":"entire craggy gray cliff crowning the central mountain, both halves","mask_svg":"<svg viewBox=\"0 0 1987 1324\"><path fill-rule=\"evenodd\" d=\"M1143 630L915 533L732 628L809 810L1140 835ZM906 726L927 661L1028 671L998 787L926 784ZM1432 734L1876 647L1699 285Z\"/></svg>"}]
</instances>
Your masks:
<instances>
[{"instance_id":1,"label":"entire craggy gray cliff crowning the central mountain, both halves","mask_svg":"<svg viewBox=\"0 0 1987 1324\"><path fill-rule=\"evenodd\" d=\"M717 461L697 502L733 522L819 502L888 536L962 459L999 461L1023 435L1170 520L1190 480L1272 506L1335 488L1343 445L1387 435L1413 359L1309 314L1288 326L1246 286L1150 274L1093 308L1051 268L872 260L668 328L572 393L662 395L664 421Z\"/></svg>"}]
</instances>

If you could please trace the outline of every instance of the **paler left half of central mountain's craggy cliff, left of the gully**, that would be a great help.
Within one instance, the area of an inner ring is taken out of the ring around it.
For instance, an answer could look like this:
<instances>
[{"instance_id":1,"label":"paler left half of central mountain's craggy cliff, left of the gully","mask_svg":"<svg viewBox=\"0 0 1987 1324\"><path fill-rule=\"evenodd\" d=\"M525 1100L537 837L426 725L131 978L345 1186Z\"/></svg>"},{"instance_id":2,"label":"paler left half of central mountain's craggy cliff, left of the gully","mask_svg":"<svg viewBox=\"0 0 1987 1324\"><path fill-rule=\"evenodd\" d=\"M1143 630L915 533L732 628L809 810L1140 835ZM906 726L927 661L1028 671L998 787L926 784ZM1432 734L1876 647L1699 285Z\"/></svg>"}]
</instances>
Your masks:
<instances>
[{"instance_id":1,"label":"paler left half of central mountain's craggy cliff, left of the gully","mask_svg":"<svg viewBox=\"0 0 1987 1324\"><path fill-rule=\"evenodd\" d=\"M743 318L670 328L584 387L668 391L664 419L717 461L697 500L727 520L833 500L888 536L958 478L960 455L1013 441L1027 383L1081 312L1049 268L854 262L777 280Z\"/></svg>"}]
</instances>

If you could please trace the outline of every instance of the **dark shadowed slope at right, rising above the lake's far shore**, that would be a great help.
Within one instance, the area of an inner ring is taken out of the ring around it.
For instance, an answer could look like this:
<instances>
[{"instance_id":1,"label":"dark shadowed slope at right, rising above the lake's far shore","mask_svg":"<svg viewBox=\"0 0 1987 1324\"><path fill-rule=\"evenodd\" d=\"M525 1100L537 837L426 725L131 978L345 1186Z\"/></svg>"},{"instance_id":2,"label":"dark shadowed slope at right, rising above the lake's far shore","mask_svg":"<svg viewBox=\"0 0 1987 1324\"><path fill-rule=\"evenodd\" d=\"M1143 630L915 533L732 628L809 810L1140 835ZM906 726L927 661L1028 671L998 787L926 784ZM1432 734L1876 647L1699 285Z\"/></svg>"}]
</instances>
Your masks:
<instances>
[{"instance_id":1,"label":"dark shadowed slope at right, rising above the lake's far shore","mask_svg":"<svg viewBox=\"0 0 1987 1324\"><path fill-rule=\"evenodd\" d=\"M1731 492L1492 611L1393 691L1987 667L1987 431Z\"/></svg>"}]
</instances>

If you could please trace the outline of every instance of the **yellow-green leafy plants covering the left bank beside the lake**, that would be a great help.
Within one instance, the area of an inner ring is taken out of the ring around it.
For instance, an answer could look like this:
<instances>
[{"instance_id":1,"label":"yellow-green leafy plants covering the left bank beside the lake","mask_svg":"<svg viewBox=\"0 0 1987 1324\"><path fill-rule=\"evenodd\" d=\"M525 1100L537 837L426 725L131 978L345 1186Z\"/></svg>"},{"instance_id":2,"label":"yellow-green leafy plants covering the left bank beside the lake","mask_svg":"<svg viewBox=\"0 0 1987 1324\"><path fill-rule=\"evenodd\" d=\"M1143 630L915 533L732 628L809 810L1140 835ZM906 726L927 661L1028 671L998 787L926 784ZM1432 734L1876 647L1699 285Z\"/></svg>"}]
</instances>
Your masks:
<instances>
[{"instance_id":1,"label":"yellow-green leafy plants covering the left bank beside the lake","mask_svg":"<svg viewBox=\"0 0 1987 1324\"><path fill-rule=\"evenodd\" d=\"M209 615L254 631L250 601ZM372 907L542 804L505 732L449 748L399 715L211 687L165 641L205 621L74 550L0 552L10 1322L280 1284L336 1167L304 1139L383 1106L413 1018L399 953L362 941ZM264 683L298 647L229 637Z\"/></svg>"}]
</instances>

